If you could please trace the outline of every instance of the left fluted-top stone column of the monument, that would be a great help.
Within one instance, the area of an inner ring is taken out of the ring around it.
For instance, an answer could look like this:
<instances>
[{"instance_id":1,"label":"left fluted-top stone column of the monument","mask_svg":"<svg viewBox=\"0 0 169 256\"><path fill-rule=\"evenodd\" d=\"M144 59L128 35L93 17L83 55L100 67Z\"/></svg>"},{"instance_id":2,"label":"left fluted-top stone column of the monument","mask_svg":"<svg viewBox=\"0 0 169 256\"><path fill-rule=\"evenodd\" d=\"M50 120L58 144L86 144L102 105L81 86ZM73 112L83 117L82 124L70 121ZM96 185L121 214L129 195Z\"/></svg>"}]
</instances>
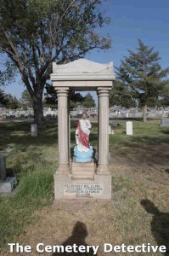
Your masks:
<instances>
[{"instance_id":1,"label":"left fluted-top stone column of the monument","mask_svg":"<svg viewBox=\"0 0 169 256\"><path fill-rule=\"evenodd\" d=\"M57 88L58 96L58 145L59 175L67 175L69 168L69 127L68 127L68 87Z\"/></svg>"}]
</instances>

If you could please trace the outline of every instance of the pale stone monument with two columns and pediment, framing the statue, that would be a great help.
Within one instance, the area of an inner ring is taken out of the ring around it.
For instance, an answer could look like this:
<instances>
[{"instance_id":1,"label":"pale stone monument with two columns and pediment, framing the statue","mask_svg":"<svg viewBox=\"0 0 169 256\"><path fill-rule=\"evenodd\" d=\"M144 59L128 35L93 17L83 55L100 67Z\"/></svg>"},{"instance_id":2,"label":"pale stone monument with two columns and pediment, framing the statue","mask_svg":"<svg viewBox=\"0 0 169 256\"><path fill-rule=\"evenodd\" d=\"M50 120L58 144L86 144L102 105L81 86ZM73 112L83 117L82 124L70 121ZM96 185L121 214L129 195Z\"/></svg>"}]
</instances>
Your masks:
<instances>
[{"instance_id":1,"label":"pale stone monument with two columns and pediment, framing the statue","mask_svg":"<svg viewBox=\"0 0 169 256\"><path fill-rule=\"evenodd\" d=\"M53 63L51 74L58 96L59 167L54 173L55 200L111 198L109 169L109 96L115 80L113 63L79 59L64 65ZM70 159L68 94L70 90L96 90L99 96L99 160L79 163Z\"/></svg>"}]
</instances>

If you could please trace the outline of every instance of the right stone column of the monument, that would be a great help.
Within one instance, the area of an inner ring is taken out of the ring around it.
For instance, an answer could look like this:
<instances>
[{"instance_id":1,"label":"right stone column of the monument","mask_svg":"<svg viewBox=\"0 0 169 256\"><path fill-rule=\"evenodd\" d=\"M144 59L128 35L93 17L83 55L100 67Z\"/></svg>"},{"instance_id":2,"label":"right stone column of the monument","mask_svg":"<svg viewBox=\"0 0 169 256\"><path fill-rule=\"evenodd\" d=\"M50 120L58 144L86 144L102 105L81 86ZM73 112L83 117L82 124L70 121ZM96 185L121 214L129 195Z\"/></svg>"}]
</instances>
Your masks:
<instances>
[{"instance_id":1,"label":"right stone column of the monument","mask_svg":"<svg viewBox=\"0 0 169 256\"><path fill-rule=\"evenodd\" d=\"M109 88L98 88L99 96L99 174L109 172Z\"/></svg>"}]
</instances>

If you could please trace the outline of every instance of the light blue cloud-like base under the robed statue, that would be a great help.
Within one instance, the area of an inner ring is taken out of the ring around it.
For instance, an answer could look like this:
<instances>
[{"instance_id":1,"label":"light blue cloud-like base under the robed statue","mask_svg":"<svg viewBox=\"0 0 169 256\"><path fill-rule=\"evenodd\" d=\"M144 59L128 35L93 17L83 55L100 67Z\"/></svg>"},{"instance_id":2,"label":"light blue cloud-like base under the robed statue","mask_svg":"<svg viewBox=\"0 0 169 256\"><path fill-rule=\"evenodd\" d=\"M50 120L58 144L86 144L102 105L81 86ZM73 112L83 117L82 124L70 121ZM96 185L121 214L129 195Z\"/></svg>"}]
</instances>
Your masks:
<instances>
[{"instance_id":1,"label":"light blue cloud-like base under the robed statue","mask_svg":"<svg viewBox=\"0 0 169 256\"><path fill-rule=\"evenodd\" d=\"M87 152L81 152L77 149L77 146L76 146L74 148L74 156L77 163L90 162L93 157L93 147L90 146L90 149Z\"/></svg>"}]
</instances>

